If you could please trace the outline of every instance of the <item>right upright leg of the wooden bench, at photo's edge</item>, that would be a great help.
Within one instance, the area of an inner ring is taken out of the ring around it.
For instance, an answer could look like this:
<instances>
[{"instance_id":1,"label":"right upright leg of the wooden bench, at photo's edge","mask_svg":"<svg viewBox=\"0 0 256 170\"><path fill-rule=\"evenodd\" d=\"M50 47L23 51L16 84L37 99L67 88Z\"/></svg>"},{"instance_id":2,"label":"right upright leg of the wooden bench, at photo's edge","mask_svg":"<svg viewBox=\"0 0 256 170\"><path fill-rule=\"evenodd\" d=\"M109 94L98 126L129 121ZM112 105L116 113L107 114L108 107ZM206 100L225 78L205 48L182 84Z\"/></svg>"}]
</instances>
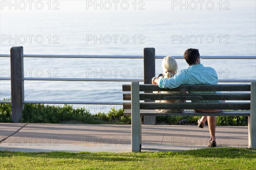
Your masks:
<instances>
[{"instance_id":1,"label":"right upright leg of the wooden bench, at photo's edge","mask_svg":"<svg viewBox=\"0 0 256 170\"><path fill-rule=\"evenodd\" d=\"M248 116L248 147L256 149L256 81L251 82L250 116Z\"/></svg>"}]
</instances>

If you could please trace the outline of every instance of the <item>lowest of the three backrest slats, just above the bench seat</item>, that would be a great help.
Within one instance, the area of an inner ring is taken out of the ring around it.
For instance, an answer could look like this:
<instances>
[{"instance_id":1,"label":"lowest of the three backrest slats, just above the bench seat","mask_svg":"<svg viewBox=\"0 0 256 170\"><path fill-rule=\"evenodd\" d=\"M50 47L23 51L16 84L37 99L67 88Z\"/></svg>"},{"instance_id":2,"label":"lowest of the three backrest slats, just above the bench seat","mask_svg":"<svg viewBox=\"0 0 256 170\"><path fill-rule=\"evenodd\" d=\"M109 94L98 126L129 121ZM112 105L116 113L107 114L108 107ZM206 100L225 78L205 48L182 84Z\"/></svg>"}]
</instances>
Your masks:
<instances>
[{"instance_id":1,"label":"lowest of the three backrest slats, just above the bench seat","mask_svg":"<svg viewBox=\"0 0 256 170\"><path fill-rule=\"evenodd\" d=\"M124 102L123 108L131 109L130 102ZM155 102L141 102L140 109L142 110L154 110L154 109L223 109L223 110L250 110L250 102L221 102L221 103L155 103Z\"/></svg>"}]
</instances>

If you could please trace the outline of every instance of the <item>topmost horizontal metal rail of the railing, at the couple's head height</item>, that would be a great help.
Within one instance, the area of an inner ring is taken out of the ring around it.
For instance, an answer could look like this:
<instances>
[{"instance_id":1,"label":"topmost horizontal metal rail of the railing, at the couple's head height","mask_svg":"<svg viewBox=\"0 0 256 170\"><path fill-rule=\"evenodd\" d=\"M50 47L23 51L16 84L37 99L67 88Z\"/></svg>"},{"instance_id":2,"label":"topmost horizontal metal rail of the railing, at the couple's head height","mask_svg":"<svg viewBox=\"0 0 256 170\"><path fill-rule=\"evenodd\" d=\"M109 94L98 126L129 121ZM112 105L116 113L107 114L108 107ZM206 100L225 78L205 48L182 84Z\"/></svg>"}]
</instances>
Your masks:
<instances>
[{"instance_id":1,"label":"topmost horizontal metal rail of the railing, at the couple's head height","mask_svg":"<svg viewBox=\"0 0 256 170\"><path fill-rule=\"evenodd\" d=\"M9 54L0 54L0 57L10 57ZM23 55L28 58L102 58L102 59L143 59L143 56L119 56L119 55ZM156 56L163 59L166 56ZM183 56L172 56L175 59L184 59ZM256 59L256 56L202 56L203 59Z\"/></svg>"}]
</instances>

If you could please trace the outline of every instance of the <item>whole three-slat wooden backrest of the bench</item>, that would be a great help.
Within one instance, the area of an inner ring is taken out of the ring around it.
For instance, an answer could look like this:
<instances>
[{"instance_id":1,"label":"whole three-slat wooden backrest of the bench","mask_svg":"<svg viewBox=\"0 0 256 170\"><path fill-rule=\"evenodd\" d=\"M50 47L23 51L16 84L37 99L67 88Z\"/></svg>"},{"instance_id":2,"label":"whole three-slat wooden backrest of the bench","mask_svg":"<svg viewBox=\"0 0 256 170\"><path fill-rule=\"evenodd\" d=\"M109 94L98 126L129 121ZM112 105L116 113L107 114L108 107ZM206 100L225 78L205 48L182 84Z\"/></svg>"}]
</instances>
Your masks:
<instances>
[{"instance_id":1,"label":"whole three-slat wooden backrest of the bench","mask_svg":"<svg viewBox=\"0 0 256 170\"><path fill-rule=\"evenodd\" d=\"M123 100L134 99L151 102L139 102L140 110L155 109L223 109L223 110L250 110L250 84L240 85L181 85L175 89L162 89L157 85L139 85L132 82L131 85L123 85L122 91L131 92L123 94ZM171 94L153 94L152 91L172 91ZM193 91L193 93L180 93ZM221 91L221 93L212 93ZM146 93L140 93L146 92ZM175 93L177 92L177 93ZM205 92L205 93L197 93ZM207 93L209 92L209 93ZM235 93L234 93L235 92ZM136 96L136 94L139 94ZM155 100L187 100L187 102L154 102ZM188 100L226 100L226 102L188 102ZM125 110L131 109L131 102L124 102Z\"/></svg>"}]
</instances>

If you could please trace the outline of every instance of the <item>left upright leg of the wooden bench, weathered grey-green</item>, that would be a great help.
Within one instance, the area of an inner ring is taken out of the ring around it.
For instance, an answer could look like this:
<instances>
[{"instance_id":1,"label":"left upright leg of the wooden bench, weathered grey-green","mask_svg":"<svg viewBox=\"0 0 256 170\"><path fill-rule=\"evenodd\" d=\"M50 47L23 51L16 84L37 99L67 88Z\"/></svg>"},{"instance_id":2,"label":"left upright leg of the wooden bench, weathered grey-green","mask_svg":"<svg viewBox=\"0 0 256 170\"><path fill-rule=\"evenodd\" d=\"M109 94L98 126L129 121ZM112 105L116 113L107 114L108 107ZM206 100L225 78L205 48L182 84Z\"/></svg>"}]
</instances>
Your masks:
<instances>
[{"instance_id":1,"label":"left upright leg of the wooden bench, weathered grey-green","mask_svg":"<svg viewBox=\"0 0 256 170\"><path fill-rule=\"evenodd\" d=\"M140 152L141 116L139 82L131 82L131 151Z\"/></svg>"}]
</instances>

